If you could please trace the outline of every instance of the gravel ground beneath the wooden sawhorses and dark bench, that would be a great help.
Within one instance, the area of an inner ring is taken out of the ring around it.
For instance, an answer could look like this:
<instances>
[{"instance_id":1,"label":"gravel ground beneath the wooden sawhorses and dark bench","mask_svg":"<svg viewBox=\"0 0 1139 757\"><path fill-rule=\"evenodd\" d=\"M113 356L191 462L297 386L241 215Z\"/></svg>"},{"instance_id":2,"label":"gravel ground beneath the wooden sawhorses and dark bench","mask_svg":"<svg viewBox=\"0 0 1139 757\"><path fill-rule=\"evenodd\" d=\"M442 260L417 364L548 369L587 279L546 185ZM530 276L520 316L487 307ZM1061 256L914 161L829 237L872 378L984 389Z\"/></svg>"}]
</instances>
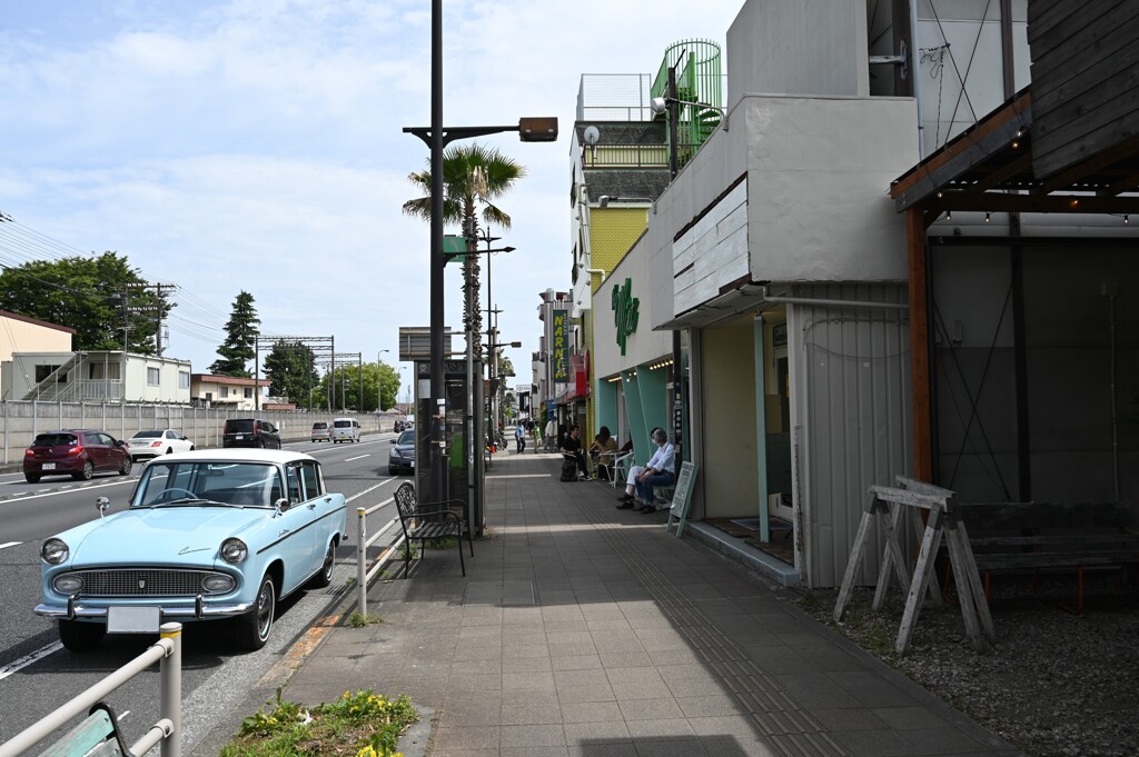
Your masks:
<instances>
[{"instance_id":1,"label":"gravel ground beneath the wooden sawhorses and dark bench","mask_svg":"<svg viewBox=\"0 0 1139 757\"><path fill-rule=\"evenodd\" d=\"M910 651L894 653L904 596L895 587L875 614L855 591L842 624L837 591L804 591L800 606L977 723L1034 757L1139 756L1139 587L1115 590L1114 573L1085 579L1083 615L1058 607L1075 576L1038 586L994 579L997 645L973 650L960 609L926 607Z\"/></svg>"}]
</instances>

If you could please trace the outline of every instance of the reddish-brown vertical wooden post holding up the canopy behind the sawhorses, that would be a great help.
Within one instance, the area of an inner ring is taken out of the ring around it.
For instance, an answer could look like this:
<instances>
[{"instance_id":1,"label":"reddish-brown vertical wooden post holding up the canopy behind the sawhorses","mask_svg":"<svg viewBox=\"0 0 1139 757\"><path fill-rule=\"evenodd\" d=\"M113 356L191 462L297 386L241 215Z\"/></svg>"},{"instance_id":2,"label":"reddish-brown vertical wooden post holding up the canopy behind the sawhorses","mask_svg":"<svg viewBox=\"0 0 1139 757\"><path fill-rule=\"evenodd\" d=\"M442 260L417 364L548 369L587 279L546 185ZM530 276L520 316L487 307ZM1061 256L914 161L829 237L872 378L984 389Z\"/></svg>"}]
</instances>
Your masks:
<instances>
[{"instance_id":1,"label":"reddish-brown vertical wooden post holding up the canopy behind the sawhorses","mask_svg":"<svg viewBox=\"0 0 1139 757\"><path fill-rule=\"evenodd\" d=\"M906 212L906 242L909 257L910 285L910 386L913 411L913 477L919 480L932 482L933 403L929 397L929 307L926 298L926 221L921 207L911 207Z\"/></svg>"}]
</instances>

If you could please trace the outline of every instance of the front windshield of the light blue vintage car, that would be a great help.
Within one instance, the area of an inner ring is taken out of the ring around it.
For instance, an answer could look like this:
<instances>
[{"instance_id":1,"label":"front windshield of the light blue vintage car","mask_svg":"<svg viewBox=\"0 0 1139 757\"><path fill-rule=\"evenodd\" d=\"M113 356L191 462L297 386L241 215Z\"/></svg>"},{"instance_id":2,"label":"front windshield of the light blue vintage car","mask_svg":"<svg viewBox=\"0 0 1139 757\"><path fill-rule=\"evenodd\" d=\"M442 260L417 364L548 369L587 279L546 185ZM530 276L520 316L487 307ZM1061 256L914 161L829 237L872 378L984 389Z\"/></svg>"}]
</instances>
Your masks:
<instances>
[{"instance_id":1,"label":"front windshield of the light blue vintage car","mask_svg":"<svg viewBox=\"0 0 1139 757\"><path fill-rule=\"evenodd\" d=\"M247 508L272 508L284 496L280 472L272 463L195 461L153 462L131 497L132 508L199 501Z\"/></svg>"}]
</instances>

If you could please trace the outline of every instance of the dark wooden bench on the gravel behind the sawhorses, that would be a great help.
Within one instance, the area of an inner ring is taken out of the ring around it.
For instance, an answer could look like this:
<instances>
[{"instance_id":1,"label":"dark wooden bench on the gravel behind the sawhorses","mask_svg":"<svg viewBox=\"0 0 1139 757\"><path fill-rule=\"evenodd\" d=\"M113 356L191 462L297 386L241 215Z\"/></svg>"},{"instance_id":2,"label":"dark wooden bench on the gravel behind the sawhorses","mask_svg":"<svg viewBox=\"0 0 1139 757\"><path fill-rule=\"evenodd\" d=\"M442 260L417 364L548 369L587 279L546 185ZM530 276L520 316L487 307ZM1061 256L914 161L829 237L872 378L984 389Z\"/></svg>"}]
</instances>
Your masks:
<instances>
[{"instance_id":1,"label":"dark wooden bench on the gravel behind the sawhorses","mask_svg":"<svg viewBox=\"0 0 1139 757\"><path fill-rule=\"evenodd\" d=\"M995 502L957 504L968 528L985 598L992 574L1042 569L1076 571L1076 607L1083 611L1087 568L1115 567L1122 585L1124 569L1139 562L1139 508L1134 503Z\"/></svg>"}]
</instances>

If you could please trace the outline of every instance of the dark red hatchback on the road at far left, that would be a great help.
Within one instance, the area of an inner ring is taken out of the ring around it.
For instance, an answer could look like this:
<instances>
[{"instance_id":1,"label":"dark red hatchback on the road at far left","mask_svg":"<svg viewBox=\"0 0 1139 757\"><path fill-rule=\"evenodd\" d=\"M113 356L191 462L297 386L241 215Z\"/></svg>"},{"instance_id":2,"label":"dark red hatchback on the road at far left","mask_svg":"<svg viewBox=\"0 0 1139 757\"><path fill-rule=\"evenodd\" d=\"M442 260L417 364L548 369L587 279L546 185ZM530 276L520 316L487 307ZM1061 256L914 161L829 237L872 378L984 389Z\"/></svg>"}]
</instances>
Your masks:
<instances>
[{"instance_id":1,"label":"dark red hatchback on the road at far left","mask_svg":"<svg viewBox=\"0 0 1139 757\"><path fill-rule=\"evenodd\" d=\"M35 484L43 476L71 476L90 480L97 472L131 472L126 443L106 431L90 429L36 434L24 451L24 478Z\"/></svg>"}]
</instances>

